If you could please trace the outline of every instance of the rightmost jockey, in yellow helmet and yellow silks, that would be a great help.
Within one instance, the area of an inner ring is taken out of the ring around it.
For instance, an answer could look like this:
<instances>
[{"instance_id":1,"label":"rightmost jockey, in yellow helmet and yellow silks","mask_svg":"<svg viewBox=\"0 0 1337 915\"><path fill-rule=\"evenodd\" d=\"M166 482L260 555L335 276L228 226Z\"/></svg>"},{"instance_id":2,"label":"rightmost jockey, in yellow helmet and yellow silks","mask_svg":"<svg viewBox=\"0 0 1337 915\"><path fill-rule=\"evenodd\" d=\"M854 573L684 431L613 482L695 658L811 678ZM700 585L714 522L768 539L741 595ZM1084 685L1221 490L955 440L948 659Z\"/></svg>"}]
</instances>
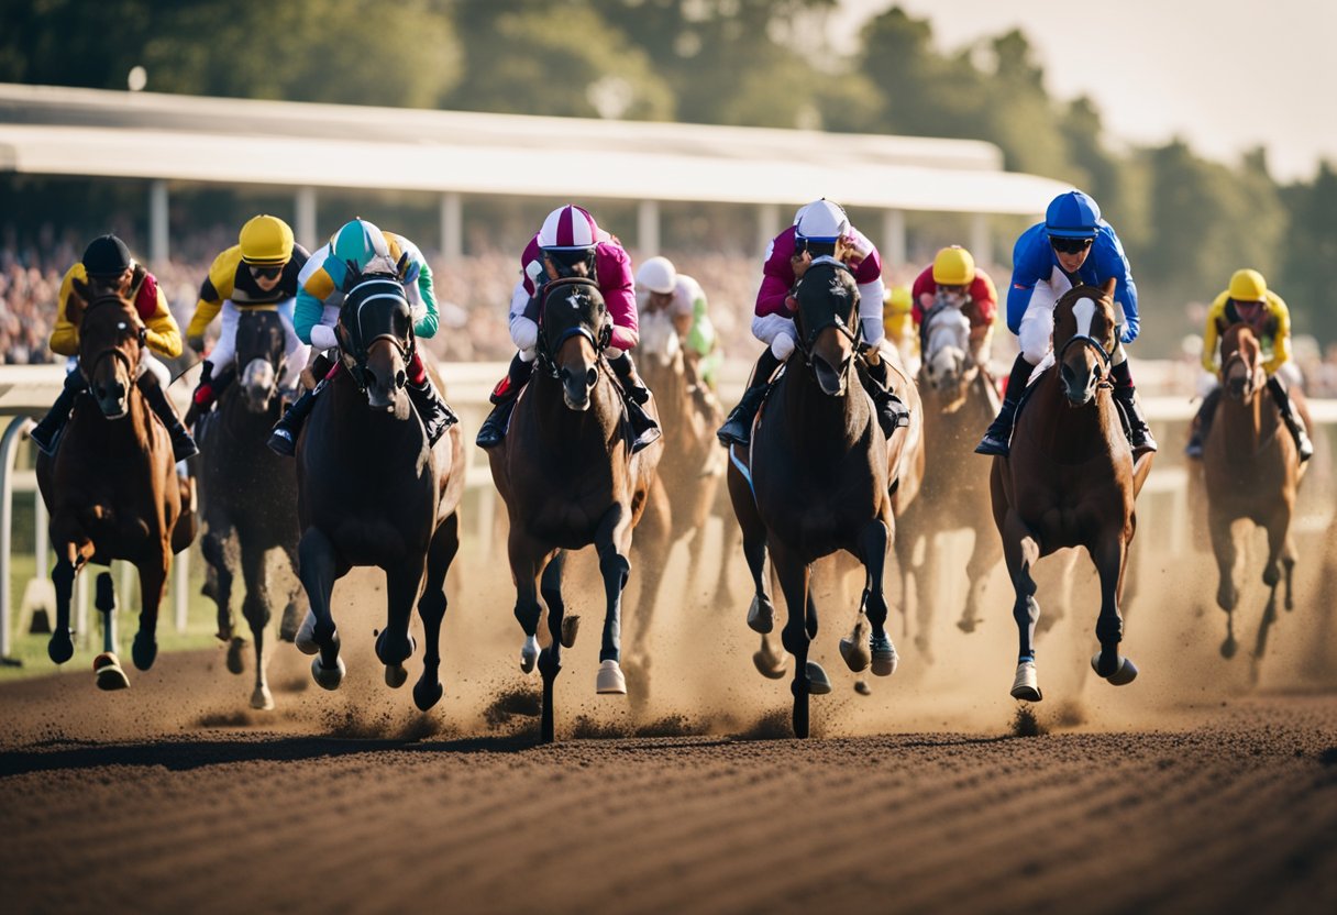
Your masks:
<instances>
[{"instance_id":1,"label":"rightmost jockey, in yellow helmet and yellow silks","mask_svg":"<svg viewBox=\"0 0 1337 915\"><path fill-rule=\"evenodd\" d=\"M1267 289L1267 281L1257 270L1235 270L1230 277L1230 286L1217 296L1207 310L1207 326L1202 334L1202 368L1218 379L1221 353L1217 341L1226 328L1239 322L1247 324L1258 334L1258 342L1265 353L1269 350L1271 353L1263 363L1267 389L1277 403L1277 409L1281 411L1282 421L1296 439L1296 448L1304 463L1314 456L1314 445L1305 432L1305 421L1296 412L1286 392L1288 383L1300 381L1300 372L1290 361L1290 310L1281 296ZM1221 403L1219 380L1202 399L1202 407L1193 419L1193 432L1189 436L1189 447L1185 448L1185 453L1190 458L1202 458L1202 443L1211 428L1211 417L1217 412L1218 403Z\"/></svg>"}]
</instances>

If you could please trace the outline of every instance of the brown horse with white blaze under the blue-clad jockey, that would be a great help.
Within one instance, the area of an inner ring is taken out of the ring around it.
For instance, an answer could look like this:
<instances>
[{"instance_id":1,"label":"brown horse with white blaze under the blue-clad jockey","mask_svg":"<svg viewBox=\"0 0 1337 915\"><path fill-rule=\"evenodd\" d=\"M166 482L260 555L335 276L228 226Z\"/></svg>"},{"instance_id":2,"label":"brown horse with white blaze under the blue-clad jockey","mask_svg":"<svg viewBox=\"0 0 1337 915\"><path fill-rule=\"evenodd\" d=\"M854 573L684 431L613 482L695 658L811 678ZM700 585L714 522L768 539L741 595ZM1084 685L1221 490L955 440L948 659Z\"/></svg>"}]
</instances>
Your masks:
<instances>
[{"instance_id":1,"label":"brown horse with white blaze under the blue-clad jockey","mask_svg":"<svg viewBox=\"0 0 1337 915\"><path fill-rule=\"evenodd\" d=\"M1040 605L1031 571L1063 547L1086 547L1100 575L1100 651L1091 666L1116 686L1138 676L1119 654L1119 601L1136 530L1134 504L1151 471L1151 452L1134 462L1111 393L1114 289L1114 280L1102 289L1076 286L1054 306L1055 361L1027 392L1011 455L995 458L989 475L993 520L1016 593L1020 653L1012 697L1028 702L1040 701L1034 646Z\"/></svg>"}]
</instances>

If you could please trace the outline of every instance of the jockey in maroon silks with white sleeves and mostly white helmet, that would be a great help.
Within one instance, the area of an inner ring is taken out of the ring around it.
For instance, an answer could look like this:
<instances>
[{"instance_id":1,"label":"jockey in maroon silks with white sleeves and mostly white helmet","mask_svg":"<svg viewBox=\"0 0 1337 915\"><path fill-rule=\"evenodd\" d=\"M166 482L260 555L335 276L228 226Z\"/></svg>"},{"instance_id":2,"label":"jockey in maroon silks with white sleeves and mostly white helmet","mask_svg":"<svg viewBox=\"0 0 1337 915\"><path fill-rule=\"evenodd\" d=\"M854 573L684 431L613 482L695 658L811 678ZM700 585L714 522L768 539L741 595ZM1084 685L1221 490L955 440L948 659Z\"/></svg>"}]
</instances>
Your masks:
<instances>
[{"instance_id":1,"label":"jockey in maroon silks with white sleeves and mostly white helmet","mask_svg":"<svg viewBox=\"0 0 1337 915\"><path fill-rule=\"evenodd\" d=\"M884 337L882 329L882 258L873 242L849 223L840 205L822 198L800 207L794 225L779 233L766 247L761 289L757 292L753 334L767 344L753 368L747 389L738 405L729 413L715 436L726 448L730 443L746 445L751 439L751 424L757 417L770 379L775 369L794 352L798 337L793 313L798 302L793 297L794 284L813 264L822 261L848 266L858 284L858 318L862 330L862 350L873 349ZM873 401L877 419L889 436L904 415L900 399L892 393L886 367L878 360L866 364L874 383Z\"/></svg>"}]
</instances>

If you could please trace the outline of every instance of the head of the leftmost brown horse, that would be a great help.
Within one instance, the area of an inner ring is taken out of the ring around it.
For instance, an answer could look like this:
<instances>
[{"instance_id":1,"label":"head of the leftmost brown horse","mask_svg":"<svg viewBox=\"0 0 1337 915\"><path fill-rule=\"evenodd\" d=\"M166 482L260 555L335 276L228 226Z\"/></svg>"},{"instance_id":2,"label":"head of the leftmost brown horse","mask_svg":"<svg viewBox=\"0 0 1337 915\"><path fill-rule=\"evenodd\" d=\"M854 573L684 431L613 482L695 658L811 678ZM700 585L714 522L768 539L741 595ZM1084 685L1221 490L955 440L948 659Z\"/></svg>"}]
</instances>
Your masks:
<instances>
[{"instance_id":1,"label":"head of the leftmost brown horse","mask_svg":"<svg viewBox=\"0 0 1337 915\"><path fill-rule=\"evenodd\" d=\"M66 309L66 317L79 325L79 371L88 381L88 392L103 416L123 417L148 328L120 280L75 280Z\"/></svg>"}]
</instances>

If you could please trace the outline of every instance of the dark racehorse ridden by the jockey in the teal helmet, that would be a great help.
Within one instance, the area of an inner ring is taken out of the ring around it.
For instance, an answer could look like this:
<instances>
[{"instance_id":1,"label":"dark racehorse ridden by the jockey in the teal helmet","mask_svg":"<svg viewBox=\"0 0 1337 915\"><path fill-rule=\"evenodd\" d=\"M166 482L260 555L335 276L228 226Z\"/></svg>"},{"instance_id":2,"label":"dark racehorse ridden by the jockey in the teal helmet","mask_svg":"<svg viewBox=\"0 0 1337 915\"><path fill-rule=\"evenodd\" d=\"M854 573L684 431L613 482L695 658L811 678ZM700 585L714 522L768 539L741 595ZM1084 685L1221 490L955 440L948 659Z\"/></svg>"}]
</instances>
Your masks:
<instances>
[{"instance_id":1,"label":"dark racehorse ridden by the jockey in the teal helmet","mask_svg":"<svg viewBox=\"0 0 1337 915\"><path fill-rule=\"evenodd\" d=\"M298 566L312 607L297 646L316 654L316 682L338 689L345 668L330 613L334 582L353 566L385 570L386 623L376 655L386 685L404 685L417 599L427 653L413 701L425 712L443 693L440 637L445 574L460 548L463 439L452 425L429 445L404 391L417 344L393 273L353 278L336 337L340 371L325 379L297 443Z\"/></svg>"}]
</instances>

